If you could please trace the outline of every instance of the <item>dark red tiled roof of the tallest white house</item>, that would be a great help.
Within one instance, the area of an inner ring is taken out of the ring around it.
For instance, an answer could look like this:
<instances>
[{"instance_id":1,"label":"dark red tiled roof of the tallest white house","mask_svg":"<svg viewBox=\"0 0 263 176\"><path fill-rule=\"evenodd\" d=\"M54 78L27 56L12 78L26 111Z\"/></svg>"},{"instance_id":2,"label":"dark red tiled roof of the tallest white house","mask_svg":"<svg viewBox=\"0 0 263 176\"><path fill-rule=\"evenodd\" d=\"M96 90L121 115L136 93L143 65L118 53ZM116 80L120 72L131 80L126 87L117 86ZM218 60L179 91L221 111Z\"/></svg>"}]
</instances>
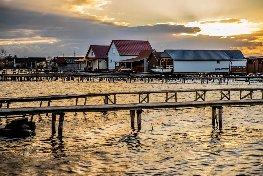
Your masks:
<instances>
[{"instance_id":1,"label":"dark red tiled roof of the tallest white house","mask_svg":"<svg viewBox=\"0 0 263 176\"><path fill-rule=\"evenodd\" d=\"M142 50L153 49L149 41L145 40L112 40L112 43L114 43L120 55L139 55ZM108 52L109 50L107 55Z\"/></svg>"}]
</instances>

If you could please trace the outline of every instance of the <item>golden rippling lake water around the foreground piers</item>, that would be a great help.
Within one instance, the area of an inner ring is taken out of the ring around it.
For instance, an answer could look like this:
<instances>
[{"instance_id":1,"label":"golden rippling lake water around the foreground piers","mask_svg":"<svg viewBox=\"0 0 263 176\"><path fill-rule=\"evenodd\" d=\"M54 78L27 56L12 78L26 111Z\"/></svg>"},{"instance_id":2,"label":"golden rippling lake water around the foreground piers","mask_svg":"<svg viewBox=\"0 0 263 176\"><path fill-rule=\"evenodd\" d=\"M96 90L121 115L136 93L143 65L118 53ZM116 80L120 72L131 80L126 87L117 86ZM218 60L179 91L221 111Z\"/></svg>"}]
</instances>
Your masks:
<instances>
[{"instance_id":1,"label":"golden rippling lake water around the foreground piers","mask_svg":"<svg viewBox=\"0 0 263 176\"><path fill-rule=\"evenodd\" d=\"M262 86L253 81L251 85L198 81L186 84L10 81L0 82L0 97ZM194 93L179 94L178 101L193 101L194 96ZM219 96L219 92L208 92L206 99L218 100ZM163 97L165 94L151 94L150 102L164 102ZM261 92L253 94L255 99L261 97ZM231 94L231 98L238 99L239 92ZM135 95L117 97L117 103L137 101ZM74 104L75 99L51 102L51 106ZM79 104L84 104L84 99ZM103 97L89 98L87 104L103 104ZM23 106L39 106L39 102L10 105ZM51 135L51 114L36 115L35 136L0 137L0 175L263 175L262 106L224 107L221 132L211 125L211 108L145 110L141 118L142 130L138 132L130 129L129 111L66 113L63 137L58 137ZM2 119L0 126L10 121Z\"/></svg>"}]
</instances>

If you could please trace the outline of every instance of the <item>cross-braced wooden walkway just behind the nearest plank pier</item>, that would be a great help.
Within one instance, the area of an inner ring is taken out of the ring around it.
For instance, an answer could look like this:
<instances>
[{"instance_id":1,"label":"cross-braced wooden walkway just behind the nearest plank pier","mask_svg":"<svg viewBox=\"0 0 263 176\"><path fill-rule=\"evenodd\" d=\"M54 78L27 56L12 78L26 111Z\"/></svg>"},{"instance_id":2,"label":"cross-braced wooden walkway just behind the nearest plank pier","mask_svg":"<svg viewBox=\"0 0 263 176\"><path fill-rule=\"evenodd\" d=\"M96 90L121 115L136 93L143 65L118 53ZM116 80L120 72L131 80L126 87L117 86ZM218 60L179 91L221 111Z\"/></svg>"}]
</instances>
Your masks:
<instances>
[{"instance_id":1,"label":"cross-braced wooden walkway just behind the nearest plank pier","mask_svg":"<svg viewBox=\"0 0 263 176\"><path fill-rule=\"evenodd\" d=\"M239 99L245 99L246 97L252 99L252 94L254 92L262 92L262 97L257 97L257 99L263 99L263 88L237 88L237 89L192 89L192 90L167 90L167 91L141 91L141 92L113 92L113 93L87 93L87 94L72 94L72 95L52 95L52 96L39 96L39 97L19 97L19 98L0 98L0 108L3 107L3 103L6 103L6 107L9 108L10 103L15 102L37 102L40 101L40 107L42 106L43 101L48 101L48 107L50 106L51 101L53 100L62 100L62 99L76 99L76 106L78 105L79 98L85 98L84 105L87 103L87 99L90 97L104 97L104 104L117 104L116 97L117 95L138 95L138 103L149 103L150 94L153 96L159 96L164 99L164 102L168 102L171 99L174 99L177 102L178 95L185 99L186 97L182 93L194 93L193 101L206 101L206 93L211 91L217 91L220 93L219 100L231 100L231 92L239 92ZM158 95L156 95L158 94ZM164 94L160 96L160 94ZM188 98L189 99L189 98Z\"/></svg>"}]
</instances>

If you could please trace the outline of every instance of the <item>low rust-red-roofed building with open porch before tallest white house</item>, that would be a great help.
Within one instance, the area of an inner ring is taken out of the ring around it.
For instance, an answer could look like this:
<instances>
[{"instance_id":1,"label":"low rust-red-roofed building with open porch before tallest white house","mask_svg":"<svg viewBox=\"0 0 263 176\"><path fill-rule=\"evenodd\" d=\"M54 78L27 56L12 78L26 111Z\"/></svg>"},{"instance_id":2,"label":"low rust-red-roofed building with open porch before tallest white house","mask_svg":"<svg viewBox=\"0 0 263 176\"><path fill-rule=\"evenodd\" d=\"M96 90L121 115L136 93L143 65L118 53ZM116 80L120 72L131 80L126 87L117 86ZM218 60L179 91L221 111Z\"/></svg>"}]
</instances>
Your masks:
<instances>
[{"instance_id":1,"label":"low rust-red-roofed building with open porch before tallest white house","mask_svg":"<svg viewBox=\"0 0 263 176\"><path fill-rule=\"evenodd\" d=\"M148 63L146 60L152 52L156 52L156 50L142 50L136 58L114 61L116 72L148 72Z\"/></svg>"}]
</instances>

